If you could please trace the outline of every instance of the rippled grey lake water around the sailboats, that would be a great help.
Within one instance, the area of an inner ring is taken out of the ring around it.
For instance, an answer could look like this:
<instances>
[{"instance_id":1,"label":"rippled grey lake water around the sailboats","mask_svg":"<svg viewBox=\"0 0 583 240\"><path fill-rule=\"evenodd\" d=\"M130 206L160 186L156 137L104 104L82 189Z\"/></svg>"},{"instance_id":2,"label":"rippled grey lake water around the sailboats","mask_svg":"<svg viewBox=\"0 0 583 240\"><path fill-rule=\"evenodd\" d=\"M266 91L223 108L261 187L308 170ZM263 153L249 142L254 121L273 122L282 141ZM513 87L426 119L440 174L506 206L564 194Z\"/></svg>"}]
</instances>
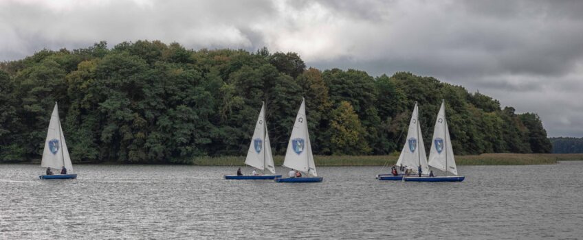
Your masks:
<instances>
[{"instance_id":1,"label":"rippled grey lake water around the sailboats","mask_svg":"<svg viewBox=\"0 0 583 240\"><path fill-rule=\"evenodd\" d=\"M580 161L461 166L456 183L378 181L381 167L318 167L324 182L310 184L222 179L236 167L74 167L76 180L39 180L37 165L0 165L0 239L583 236Z\"/></svg>"}]
</instances>

